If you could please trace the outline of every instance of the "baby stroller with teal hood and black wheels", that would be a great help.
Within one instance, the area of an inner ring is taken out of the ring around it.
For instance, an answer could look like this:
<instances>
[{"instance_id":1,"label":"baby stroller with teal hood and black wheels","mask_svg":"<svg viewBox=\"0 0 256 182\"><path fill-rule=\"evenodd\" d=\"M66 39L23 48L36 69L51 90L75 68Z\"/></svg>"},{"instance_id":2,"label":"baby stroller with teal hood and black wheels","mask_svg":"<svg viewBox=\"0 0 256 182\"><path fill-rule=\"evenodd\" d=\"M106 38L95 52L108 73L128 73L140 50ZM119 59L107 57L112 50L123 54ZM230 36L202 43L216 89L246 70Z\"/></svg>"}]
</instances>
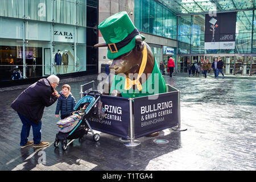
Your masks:
<instances>
[{"instance_id":1,"label":"baby stroller with teal hood and black wheels","mask_svg":"<svg viewBox=\"0 0 256 182\"><path fill-rule=\"evenodd\" d=\"M89 96L89 93L94 93L94 97ZM77 102L74 107L75 111L71 116L57 122L57 126L60 131L56 134L54 142L55 147L58 147L59 142L61 142L63 150L67 150L69 144L77 138L81 141L82 137L87 135L88 132L92 133L94 141L97 142L100 139L100 135L93 132L88 121L92 121L93 119L90 117L95 117L98 114L101 114L100 116L98 115L99 119L102 119L105 116L102 102L100 101L102 92L98 90L91 90L89 93ZM100 96L97 99L96 93L100 93ZM101 111L98 111L100 102Z\"/></svg>"}]
</instances>

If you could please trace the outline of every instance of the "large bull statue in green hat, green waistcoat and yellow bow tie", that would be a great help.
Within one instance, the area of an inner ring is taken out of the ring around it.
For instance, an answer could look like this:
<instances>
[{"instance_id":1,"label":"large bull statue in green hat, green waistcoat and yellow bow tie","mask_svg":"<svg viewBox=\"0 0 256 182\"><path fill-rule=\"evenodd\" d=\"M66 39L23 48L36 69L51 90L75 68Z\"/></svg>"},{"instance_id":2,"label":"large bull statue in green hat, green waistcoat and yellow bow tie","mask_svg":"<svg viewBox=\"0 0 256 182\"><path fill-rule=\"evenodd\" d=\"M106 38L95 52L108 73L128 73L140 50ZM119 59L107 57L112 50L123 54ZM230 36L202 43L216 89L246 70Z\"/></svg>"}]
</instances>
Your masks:
<instances>
[{"instance_id":1,"label":"large bull statue in green hat, green waistcoat and yellow bow tie","mask_svg":"<svg viewBox=\"0 0 256 182\"><path fill-rule=\"evenodd\" d=\"M166 92L154 53L126 11L105 19L98 28L105 43L94 47L108 47L108 59L113 60L104 94L134 98Z\"/></svg>"}]
</instances>

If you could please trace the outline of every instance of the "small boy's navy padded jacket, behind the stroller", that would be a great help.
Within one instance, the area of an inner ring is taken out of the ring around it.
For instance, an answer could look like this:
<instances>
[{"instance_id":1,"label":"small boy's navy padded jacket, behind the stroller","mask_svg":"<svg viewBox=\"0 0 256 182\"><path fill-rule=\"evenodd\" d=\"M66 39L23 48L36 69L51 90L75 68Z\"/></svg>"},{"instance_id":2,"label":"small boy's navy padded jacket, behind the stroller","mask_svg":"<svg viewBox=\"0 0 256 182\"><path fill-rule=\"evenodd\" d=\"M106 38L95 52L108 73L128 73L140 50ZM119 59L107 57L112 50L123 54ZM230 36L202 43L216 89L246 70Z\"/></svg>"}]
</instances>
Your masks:
<instances>
[{"instance_id":1,"label":"small boy's navy padded jacket, behind the stroller","mask_svg":"<svg viewBox=\"0 0 256 182\"><path fill-rule=\"evenodd\" d=\"M74 111L73 108L76 106L75 97L70 93L68 98L66 98L62 91L59 94L60 97L57 102L55 114L59 114L60 112L60 115L71 115Z\"/></svg>"}]
</instances>

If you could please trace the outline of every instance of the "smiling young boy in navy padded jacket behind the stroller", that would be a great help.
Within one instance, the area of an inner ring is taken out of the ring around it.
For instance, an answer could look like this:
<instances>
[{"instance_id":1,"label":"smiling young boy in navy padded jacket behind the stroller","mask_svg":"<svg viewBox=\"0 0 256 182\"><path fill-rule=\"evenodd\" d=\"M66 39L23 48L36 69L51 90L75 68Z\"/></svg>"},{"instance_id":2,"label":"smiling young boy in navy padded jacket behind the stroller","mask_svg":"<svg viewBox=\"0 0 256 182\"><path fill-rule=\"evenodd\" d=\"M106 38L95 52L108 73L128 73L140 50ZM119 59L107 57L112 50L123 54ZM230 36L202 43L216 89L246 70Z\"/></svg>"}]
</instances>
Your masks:
<instances>
[{"instance_id":1,"label":"smiling young boy in navy padded jacket behind the stroller","mask_svg":"<svg viewBox=\"0 0 256 182\"><path fill-rule=\"evenodd\" d=\"M73 108L76 105L76 99L72 96L70 89L71 88L68 84L62 86L62 91L59 93L60 97L58 99L55 111L56 118L59 117L59 112L61 119L64 119L73 113Z\"/></svg>"}]
</instances>

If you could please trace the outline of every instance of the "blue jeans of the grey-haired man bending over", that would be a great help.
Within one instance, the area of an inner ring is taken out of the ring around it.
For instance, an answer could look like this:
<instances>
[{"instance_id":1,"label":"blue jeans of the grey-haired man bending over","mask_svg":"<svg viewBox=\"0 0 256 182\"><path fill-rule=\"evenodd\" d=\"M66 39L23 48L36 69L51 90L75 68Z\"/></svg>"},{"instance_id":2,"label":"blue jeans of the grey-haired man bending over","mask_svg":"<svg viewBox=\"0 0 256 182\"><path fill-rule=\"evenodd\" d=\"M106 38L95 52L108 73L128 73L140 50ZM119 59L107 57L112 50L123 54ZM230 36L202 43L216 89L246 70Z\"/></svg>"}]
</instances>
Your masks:
<instances>
[{"instance_id":1,"label":"blue jeans of the grey-haired man bending over","mask_svg":"<svg viewBox=\"0 0 256 182\"><path fill-rule=\"evenodd\" d=\"M24 115L19 114L19 118L22 121L22 131L20 133L20 146L24 146L28 141L28 136L30 135L30 128L32 126L33 130L33 140L34 144L39 144L41 142L41 129L42 129L42 121L36 125L36 123L31 122L28 118L24 117Z\"/></svg>"}]
</instances>

